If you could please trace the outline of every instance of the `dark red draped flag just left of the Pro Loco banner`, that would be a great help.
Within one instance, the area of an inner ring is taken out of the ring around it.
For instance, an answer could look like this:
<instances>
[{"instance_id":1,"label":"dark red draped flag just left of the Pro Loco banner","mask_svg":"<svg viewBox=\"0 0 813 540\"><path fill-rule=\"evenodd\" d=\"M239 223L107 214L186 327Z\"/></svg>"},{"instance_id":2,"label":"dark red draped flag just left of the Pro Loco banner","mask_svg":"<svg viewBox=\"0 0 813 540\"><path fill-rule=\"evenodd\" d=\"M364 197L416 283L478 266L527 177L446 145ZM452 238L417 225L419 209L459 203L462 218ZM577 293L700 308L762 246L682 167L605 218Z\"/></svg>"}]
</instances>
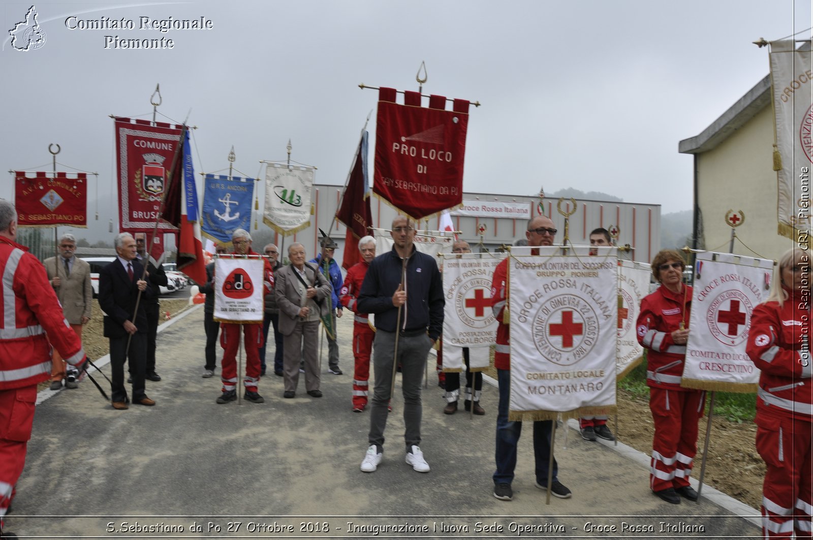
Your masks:
<instances>
[{"instance_id":1,"label":"dark red draped flag just left of the Pro Loco banner","mask_svg":"<svg viewBox=\"0 0 813 540\"><path fill-rule=\"evenodd\" d=\"M341 207L336 212L336 219L347 227L345 256L341 263L345 269L361 260L359 239L372 234L367 229L372 225L370 190L367 187L367 135L365 131L359 141L359 150L356 151L353 168L350 169Z\"/></svg>"}]
</instances>

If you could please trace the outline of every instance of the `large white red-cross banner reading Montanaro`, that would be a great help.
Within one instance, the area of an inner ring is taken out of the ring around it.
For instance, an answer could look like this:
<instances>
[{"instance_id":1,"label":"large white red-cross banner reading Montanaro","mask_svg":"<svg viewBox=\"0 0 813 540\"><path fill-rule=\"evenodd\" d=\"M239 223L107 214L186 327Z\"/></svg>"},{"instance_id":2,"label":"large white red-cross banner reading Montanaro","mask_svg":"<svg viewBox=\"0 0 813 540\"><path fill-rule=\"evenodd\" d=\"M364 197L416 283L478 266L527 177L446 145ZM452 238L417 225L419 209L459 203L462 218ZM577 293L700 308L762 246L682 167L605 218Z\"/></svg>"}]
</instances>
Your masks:
<instances>
[{"instance_id":1,"label":"large white red-cross banner reading Montanaro","mask_svg":"<svg viewBox=\"0 0 813 540\"><path fill-rule=\"evenodd\" d=\"M509 420L615 412L618 271L615 248L511 249Z\"/></svg>"}]
</instances>

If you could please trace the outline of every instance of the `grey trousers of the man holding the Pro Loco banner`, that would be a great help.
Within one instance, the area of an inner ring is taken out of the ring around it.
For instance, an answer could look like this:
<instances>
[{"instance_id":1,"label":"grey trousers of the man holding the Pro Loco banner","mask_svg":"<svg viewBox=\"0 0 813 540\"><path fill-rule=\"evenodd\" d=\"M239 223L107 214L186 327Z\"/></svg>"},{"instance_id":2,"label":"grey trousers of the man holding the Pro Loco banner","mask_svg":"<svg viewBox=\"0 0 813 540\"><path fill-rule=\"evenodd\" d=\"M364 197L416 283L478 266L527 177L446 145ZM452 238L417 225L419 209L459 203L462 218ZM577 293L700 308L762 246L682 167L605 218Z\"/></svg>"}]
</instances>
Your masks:
<instances>
[{"instance_id":1,"label":"grey trousers of the man holding the Pro Loco banner","mask_svg":"<svg viewBox=\"0 0 813 540\"><path fill-rule=\"evenodd\" d=\"M425 333L414 337L398 337L398 362L401 363L401 387L404 396L404 442L406 449L420 445L420 385L424 378L426 355L432 341ZM379 450L384 447L384 429L387 426L387 406L393 384L393 352L395 333L376 331L373 340L372 364L376 383L370 410L370 444Z\"/></svg>"}]
</instances>

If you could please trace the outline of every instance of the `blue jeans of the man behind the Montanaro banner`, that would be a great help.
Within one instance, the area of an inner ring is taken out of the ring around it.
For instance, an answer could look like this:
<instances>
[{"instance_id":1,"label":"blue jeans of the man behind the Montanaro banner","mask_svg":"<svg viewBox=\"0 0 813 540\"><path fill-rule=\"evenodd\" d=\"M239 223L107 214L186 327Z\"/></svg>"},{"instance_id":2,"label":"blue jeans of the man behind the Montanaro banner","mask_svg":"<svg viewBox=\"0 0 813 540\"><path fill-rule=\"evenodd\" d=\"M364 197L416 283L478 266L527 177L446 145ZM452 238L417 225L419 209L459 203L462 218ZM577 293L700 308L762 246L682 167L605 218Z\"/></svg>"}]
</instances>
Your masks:
<instances>
[{"instance_id":1,"label":"blue jeans of the man behind the Montanaro banner","mask_svg":"<svg viewBox=\"0 0 813 540\"><path fill-rule=\"evenodd\" d=\"M500 401L497 409L497 447L494 460L497 470L494 471L494 484L511 484L514 481L516 468L516 445L520 442L522 422L508 421L508 403L511 390L511 371L497 370L497 382L500 389ZM550 459L550 431L553 429L553 420L544 420L533 423L533 458L536 462L536 477L540 486L548 483L548 460ZM554 459L554 477L557 481L559 467Z\"/></svg>"}]
</instances>

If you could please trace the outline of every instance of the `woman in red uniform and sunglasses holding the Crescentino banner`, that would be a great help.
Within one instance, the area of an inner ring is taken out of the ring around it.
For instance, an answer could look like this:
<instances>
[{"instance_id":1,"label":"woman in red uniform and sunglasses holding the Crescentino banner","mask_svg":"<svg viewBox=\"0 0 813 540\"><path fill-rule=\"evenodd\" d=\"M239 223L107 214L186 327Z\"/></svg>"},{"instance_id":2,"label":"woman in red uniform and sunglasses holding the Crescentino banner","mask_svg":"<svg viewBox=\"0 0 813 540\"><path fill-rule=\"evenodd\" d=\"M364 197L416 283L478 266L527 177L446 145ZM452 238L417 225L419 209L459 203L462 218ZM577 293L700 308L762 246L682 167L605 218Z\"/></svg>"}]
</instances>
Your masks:
<instances>
[{"instance_id":1,"label":"woman in red uniform and sunglasses holding the Crescentino banner","mask_svg":"<svg viewBox=\"0 0 813 540\"><path fill-rule=\"evenodd\" d=\"M652 275L660 287L641 301L638 342L646 348L646 385L655 433L650 462L650 488L667 503L691 501L698 492L689 486L698 451L698 420L706 393L680 386L692 288L683 283L683 257L660 250L652 259Z\"/></svg>"}]
</instances>

